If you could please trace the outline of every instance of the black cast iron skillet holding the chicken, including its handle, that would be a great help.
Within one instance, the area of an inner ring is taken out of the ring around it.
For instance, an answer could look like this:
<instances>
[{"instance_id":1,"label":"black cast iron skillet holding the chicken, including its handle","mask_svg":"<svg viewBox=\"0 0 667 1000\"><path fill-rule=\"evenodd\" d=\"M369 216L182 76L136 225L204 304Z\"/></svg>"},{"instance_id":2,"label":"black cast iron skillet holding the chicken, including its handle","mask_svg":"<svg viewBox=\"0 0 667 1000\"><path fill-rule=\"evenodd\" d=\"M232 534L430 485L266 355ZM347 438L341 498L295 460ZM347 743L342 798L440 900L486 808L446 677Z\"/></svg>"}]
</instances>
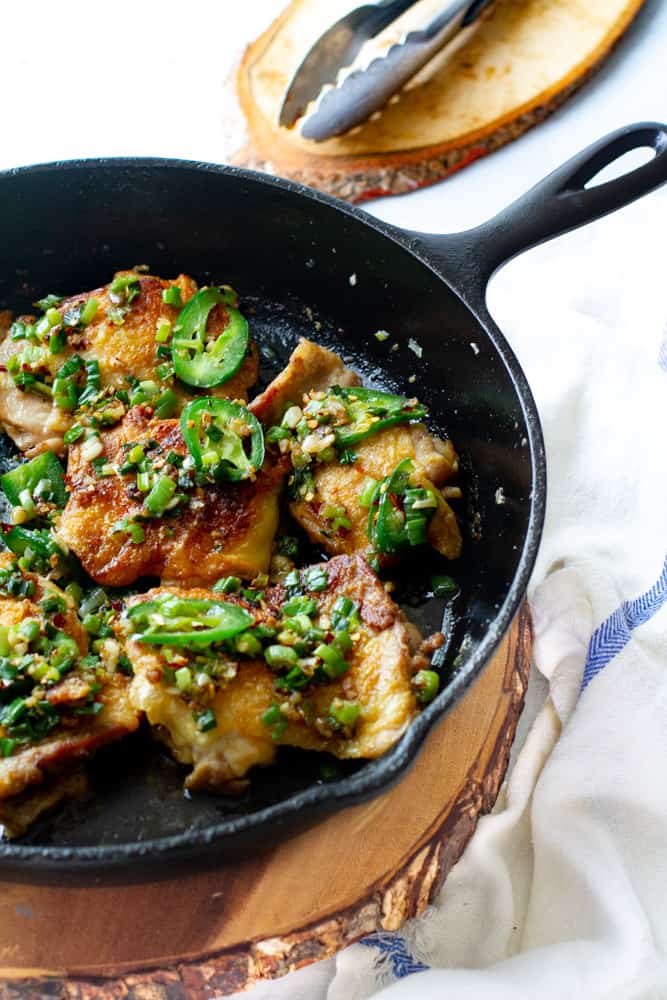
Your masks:
<instances>
[{"instance_id":1,"label":"black cast iron skillet holding the chicken, including its handle","mask_svg":"<svg viewBox=\"0 0 667 1000\"><path fill-rule=\"evenodd\" d=\"M639 147L655 156L586 188ZM131 739L97 758L90 802L61 810L19 843L0 845L3 876L129 877L137 863L144 875L147 865L173 875L181 861L217 864L384 792L405 773L512 621L544 518L539 419L486 309L487 282L523 250L666 180L667 128L635 125L576 156L490 222L435 236L392 228L287 181L205 163L90 160L0 174L0 304L18 309L45 292L92 288L114 269L139 263L165 276L184 271L229 282L244 297L269 368L306 334L341 350L370 381L426 402L431 425L450 434L462 457L466 497L453 606L432 598L428 566L406 571L408 612L427 629L444 615L450 642L441 693L390 752L324 782L320 758L285 751L242 799L187 801L178 768L150 741ZM400 343L398 351L375 340L380 328Z\"/></svg>"}]
</instances>

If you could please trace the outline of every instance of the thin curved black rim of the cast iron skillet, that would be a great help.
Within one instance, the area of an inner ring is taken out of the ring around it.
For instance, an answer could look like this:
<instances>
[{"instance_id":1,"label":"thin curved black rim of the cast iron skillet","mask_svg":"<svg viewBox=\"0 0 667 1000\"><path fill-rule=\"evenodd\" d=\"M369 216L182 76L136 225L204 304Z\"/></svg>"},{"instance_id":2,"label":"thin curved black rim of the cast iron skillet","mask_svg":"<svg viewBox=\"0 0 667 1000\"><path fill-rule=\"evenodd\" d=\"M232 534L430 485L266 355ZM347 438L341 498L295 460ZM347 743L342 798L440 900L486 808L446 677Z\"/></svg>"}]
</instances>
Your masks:
<instances>
[{"instance_id":1,"label":"thin curved black rim of the cast iron skillet","mask_svg":"<svg viewBox=\"0 0 667 1000\"><path fill-rule=\"evenodd\" d=\"M21 868L25 866L28 870L35 872L55 871L65 865L70 871L92 871L95 869L117 869L147 861L159 864L173 860L179 855L194 855L198 852L205 852L207 848L215 844L223 848L226 839L236 840L240 835L256 833L262 827L284 824L302 811L319 809L324 814L328 806L326 812L332 813L345 806L365 801L388 791L414 763L431 729L444 719L463 697L498 648L525 597L528 581L537 558L546 508L546 456L537 406L528 380L514 351L486 309L487 279L480 280L478 302L468 301L462 289L457 288L455 276L447 276L438 266L436 255L432 252L435 249L433 234L417 233L391 226L356 205L351 205L295 181L242 167L202 160L186 160L178 157L91 157L10 167L0 170L0 197L2 197L2 185L8 181L11 182L15 177L56 174L62 171L74 173L111 169L199 171L226 177L238 177L251 183L278 188L289 194L329 206L348 216L355 223L375 230L378 235L398 244L401 249L415 257L418 263L427 267L461 300L463 306L472 314L488 336L511 378L527 429L532 473L530 509L525 541L516 572L505 599L488 626L486 634L480 640L465 666L443 688L434 701L422 709L399 741L377 760L369 762L372 767L362 768L355 774L326 784L312 785L256 812L228 819L223 818L219 823L205 829L186 830L178 834L156 837L152 840L127 841L90 847L58 847L0 842L0 866L15 868L18 864ZM461 235L457 234L459 237ZM442 249L445 247L448 237L443 235L435 237L435 239L439 241L439 249ZM427 241L431 242L431 247ZM224 861L224 858L219 858L218 861Z\"/></svg>"}]
</instances>

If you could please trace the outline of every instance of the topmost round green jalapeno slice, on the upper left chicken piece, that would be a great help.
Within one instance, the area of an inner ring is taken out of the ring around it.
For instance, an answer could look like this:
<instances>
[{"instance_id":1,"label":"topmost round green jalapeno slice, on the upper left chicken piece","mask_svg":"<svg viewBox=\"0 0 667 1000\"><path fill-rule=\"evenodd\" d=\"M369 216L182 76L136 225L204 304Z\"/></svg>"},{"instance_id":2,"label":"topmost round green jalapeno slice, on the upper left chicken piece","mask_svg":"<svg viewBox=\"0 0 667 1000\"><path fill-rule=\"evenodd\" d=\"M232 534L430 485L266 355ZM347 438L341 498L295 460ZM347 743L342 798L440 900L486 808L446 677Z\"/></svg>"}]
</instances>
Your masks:
<instances>
[{"instance_id":1,"label":"topmost round green jalapeno slice, on the upper left chicken piece","mask_svg":"<svg viewBox=\"0 0 667 1000\"><path fill-rule=\"evenodd\" d=\"M178 377L188 385L210 389L235 375L248 350L248 323L234 308L231 289L202 288L192 296L174 323L171 356ZM215 340L207 340L211 310L225 306L228 323Z\"/></svg>"}]
</instances>

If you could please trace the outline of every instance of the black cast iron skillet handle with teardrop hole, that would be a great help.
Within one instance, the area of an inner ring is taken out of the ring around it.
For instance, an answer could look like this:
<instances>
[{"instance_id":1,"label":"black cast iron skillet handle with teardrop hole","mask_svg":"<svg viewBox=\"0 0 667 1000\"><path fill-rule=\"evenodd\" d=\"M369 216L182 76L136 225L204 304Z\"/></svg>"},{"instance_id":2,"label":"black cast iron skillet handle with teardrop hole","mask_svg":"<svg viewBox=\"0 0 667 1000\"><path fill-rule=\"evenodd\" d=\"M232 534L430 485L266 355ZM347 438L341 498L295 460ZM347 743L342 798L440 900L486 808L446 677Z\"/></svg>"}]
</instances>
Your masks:
<instances>
[{"instance_id":1,"label":"black cast iron skillet handle with teardrop hole","mask_svg":"<svg viewBox=\"0 0 667 1000\"><path fill-rule=\"evenodd\" d=\"M587 188L604 167L633 149L655 156L629 173ZM667 182L667 126L628 125L593 143L475 229L451 236L411 234L470 304L483 306L486 286L513 257L630 204Z\"/></svg>"}]
</instances>

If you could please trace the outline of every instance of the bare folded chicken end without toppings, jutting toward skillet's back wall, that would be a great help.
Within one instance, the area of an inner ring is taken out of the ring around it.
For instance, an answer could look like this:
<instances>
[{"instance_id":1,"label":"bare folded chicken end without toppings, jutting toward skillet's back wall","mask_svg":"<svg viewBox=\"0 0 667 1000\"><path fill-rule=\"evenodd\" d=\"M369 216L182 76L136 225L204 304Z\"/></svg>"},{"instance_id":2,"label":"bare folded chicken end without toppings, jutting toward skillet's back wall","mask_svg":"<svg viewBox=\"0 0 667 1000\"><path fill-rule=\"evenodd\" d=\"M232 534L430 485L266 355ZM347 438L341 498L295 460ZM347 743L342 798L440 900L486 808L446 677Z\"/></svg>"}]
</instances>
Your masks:
<instances>
[{"instance_id":1,"label":"bare folded chicken end without toppings, jutting toward skillet's back wall","mask_svg":"<svg viewBox=\"0 0 667 1000\"><path fill-rule=\"evenodd\" d=\"M356 372L346 368L333 351L303 337L285 368L249 406L265 427L279 424L290 403L300 404L304 393L331 385L360 385Z\"/></svg>"}]
</instances>

